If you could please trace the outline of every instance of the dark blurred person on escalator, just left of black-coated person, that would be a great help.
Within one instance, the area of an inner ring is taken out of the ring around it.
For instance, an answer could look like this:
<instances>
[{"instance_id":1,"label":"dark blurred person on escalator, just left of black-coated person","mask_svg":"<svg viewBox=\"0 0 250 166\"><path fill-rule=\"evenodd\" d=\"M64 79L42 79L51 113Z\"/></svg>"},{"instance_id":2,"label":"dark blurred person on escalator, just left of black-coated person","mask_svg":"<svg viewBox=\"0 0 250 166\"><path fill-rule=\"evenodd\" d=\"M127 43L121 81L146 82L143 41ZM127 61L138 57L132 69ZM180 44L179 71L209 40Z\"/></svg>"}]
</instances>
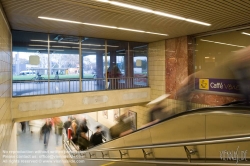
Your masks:
<instances>
[{"instance_id":1,"label":"dark blurred person on escalator, just left of black-coated person","mask_svg":"<svg viewBox=\"0 0 250 166\"><path fill-rule=\"evenodd\" d=\"M77 129L77 144L80 150L86 150L90 146L90 141L86 135L88 128L84 123L81 123Z\"/></svg>"}]
</instances>

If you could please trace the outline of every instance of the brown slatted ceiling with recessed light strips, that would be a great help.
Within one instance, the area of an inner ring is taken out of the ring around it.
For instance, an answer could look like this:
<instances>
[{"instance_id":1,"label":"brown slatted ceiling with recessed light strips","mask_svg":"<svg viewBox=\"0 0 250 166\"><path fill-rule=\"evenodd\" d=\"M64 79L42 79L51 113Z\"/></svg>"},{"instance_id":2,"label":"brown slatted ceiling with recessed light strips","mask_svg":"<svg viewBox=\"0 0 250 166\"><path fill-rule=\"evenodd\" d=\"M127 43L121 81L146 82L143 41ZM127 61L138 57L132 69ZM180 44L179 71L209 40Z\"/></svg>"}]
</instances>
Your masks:
<instances>
[{"instance_id":1,"label":"brown slatted ceiling with recessed light strips","mask_svg":"<svg viewBox=\"0 0 250 166\"><path fill-rule=\"evenodd\" d=\"M115 1L212 25L199 25L95 0L0 0L12 29L114 40L153 42L250 24L249 0ZM169 36L42 20L38 16L144 30Z\"/></svg>"}]
</instances>

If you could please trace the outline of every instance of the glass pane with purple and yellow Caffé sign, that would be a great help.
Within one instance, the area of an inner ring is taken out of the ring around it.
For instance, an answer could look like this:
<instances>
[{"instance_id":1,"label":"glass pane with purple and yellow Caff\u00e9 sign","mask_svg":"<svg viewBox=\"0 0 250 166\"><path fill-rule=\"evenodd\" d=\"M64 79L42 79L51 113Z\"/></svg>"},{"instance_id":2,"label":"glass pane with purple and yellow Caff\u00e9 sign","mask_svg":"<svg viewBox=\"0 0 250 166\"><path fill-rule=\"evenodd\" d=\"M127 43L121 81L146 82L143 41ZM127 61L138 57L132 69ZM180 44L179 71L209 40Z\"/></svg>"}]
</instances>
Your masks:
<instances>
[{"instance_id":1,"label":"glass pane with purple and yellow Caff\u00e9 sign","mask_svg":"<svg viewBox=\"0 0 250 166\"><path fill-rule=\"evenodd\" d=\"M249 34L250 29L245 29L196 38L197 90L240 93L237 72L248 64L234 53L250 45Z\"/></svg>"}]
</instances>

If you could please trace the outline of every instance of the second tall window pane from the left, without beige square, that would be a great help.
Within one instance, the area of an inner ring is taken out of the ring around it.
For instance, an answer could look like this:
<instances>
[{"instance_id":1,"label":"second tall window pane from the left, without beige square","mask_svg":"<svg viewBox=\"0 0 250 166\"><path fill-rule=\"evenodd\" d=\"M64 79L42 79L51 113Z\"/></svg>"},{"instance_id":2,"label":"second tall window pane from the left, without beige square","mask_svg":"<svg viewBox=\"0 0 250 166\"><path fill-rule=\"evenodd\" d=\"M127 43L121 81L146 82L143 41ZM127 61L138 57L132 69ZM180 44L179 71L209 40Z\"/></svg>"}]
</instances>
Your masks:
<instances>
[{"instance_id":1,"label":"second tall window pane from the left, without beige square","mask_svg":"<svg viewBox=\"0 0 250 166\"><path fill-rule=\"evenodd\" d=\"M50 93L79 92L79 37L50 34Z\"/></svg>"}]
</instances>

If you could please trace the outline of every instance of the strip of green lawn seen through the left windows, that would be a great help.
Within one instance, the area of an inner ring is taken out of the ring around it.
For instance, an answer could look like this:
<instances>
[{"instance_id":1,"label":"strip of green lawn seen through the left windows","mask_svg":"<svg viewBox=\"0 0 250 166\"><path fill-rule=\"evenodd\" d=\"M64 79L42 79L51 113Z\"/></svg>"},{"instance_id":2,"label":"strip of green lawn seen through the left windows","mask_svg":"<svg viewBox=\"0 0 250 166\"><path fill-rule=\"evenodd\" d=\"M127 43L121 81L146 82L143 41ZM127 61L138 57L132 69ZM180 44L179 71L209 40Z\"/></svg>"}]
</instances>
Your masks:
<instances>
[{"instance_id":1,"label":"strip of green lawn seen through the left windows","mask_svg":"<svg viewBox=\"0 0 250 166\"><path fill-rule=\"evenodd\" d=\"M20 75L20 76L13 76L13 81L31 81L32 78L36 77L36 75ZM42 75L45 80L48 79L48 75ZM50 79L53 80L55 78L55 75L51 75ZM78 79L79 75L78 74L72 74L72 75L59 75L59 79ZM84 74L83 78L94 78L93 74Z\"/></svg>"}]
</instances>

